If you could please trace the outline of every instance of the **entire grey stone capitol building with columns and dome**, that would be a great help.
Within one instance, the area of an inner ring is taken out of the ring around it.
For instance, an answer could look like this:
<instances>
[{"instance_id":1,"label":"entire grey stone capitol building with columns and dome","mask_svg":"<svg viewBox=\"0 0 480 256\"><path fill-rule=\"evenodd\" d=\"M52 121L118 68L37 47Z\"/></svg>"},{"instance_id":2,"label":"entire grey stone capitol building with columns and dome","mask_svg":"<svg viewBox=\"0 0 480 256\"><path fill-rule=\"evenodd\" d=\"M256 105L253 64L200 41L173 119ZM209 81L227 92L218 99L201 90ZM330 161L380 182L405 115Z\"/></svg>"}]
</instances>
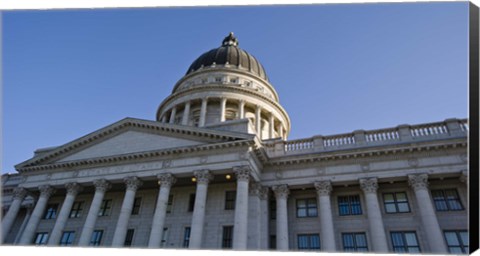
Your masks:
<instances>
[{"instance_id":1,"label":"entire grey stone capitol building with columns and dome","mask_svg":"<svg viewBox=\"0 0 480 256\"><path fill-rule=\"evenodd\" d=\"M38 149L3 175L1 239L468 253L467 119L298 140L290 130L266 70L230 33L193 61L156 120Z\"/></svg>"}]
</instances>

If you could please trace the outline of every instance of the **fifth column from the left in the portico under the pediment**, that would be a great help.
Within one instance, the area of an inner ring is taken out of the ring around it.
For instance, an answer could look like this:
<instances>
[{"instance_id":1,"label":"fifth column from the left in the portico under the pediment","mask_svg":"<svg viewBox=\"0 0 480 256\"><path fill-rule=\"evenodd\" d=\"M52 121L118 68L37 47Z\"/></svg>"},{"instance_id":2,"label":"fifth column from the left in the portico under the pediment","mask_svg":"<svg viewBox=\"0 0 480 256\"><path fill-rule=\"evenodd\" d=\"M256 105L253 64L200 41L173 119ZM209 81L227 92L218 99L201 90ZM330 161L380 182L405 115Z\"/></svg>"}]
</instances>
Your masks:
<instances>
[{"instance_id":1,"label":"fifth column from the left in the portico under the pediment","mask_svg":"<svg viewBox=\"0 0 480 256\"><path fill-rule=\"evenodd\" d=\"M120 216L118 216L117 226L113 233L112 247L122 247L127 235L128 220L132 214L133 201L135 200L135 193L142 185L137 177L126 177L123 179L126 186L125 196L123 198L122 208L120 209Z\"/></svg>"}]
</instances>

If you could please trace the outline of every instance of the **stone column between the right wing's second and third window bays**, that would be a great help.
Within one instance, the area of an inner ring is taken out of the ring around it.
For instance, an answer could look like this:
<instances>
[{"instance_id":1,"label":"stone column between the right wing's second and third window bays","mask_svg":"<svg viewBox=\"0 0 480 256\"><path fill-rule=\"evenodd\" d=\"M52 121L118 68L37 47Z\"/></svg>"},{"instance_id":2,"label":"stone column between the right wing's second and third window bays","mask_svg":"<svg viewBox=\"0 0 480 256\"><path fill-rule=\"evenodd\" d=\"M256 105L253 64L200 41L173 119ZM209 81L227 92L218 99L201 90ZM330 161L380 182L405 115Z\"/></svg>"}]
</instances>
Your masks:
<instances>
[{"instance_id":1,"label":"stone column between the right wing's second and third window bays","mask_svg":"<svg viewBox=\"0 0 480 256\"><path fill-rule=\"evenodd\" d=\"M387 252L387 237L383 227L382 213L378 205L377 178L360 179L360 187L367 201L368 225L370 228L370 241L374 252Z\"/></svg>"}]
</instances>

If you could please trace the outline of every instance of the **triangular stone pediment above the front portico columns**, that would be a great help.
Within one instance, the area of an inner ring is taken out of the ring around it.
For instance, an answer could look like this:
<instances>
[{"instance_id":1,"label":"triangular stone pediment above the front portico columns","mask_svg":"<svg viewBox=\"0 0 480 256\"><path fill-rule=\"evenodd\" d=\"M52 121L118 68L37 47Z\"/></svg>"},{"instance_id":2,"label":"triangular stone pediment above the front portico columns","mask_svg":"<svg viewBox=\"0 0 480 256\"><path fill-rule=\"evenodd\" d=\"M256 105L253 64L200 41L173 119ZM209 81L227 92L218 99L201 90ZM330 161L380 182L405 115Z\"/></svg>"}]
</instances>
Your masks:
<instances>
[{"instance_id":1,"label":"triangular stone pediment above the front portico columns","mask_svg":"<svg viewBox=\"0 0 480 256\"><path fill-rule=\"evenodd\" d=\"M203 147L253 139L252 135L126 118L62 146L41 153L15 168Z\"/></svg>"}]
</instances>

